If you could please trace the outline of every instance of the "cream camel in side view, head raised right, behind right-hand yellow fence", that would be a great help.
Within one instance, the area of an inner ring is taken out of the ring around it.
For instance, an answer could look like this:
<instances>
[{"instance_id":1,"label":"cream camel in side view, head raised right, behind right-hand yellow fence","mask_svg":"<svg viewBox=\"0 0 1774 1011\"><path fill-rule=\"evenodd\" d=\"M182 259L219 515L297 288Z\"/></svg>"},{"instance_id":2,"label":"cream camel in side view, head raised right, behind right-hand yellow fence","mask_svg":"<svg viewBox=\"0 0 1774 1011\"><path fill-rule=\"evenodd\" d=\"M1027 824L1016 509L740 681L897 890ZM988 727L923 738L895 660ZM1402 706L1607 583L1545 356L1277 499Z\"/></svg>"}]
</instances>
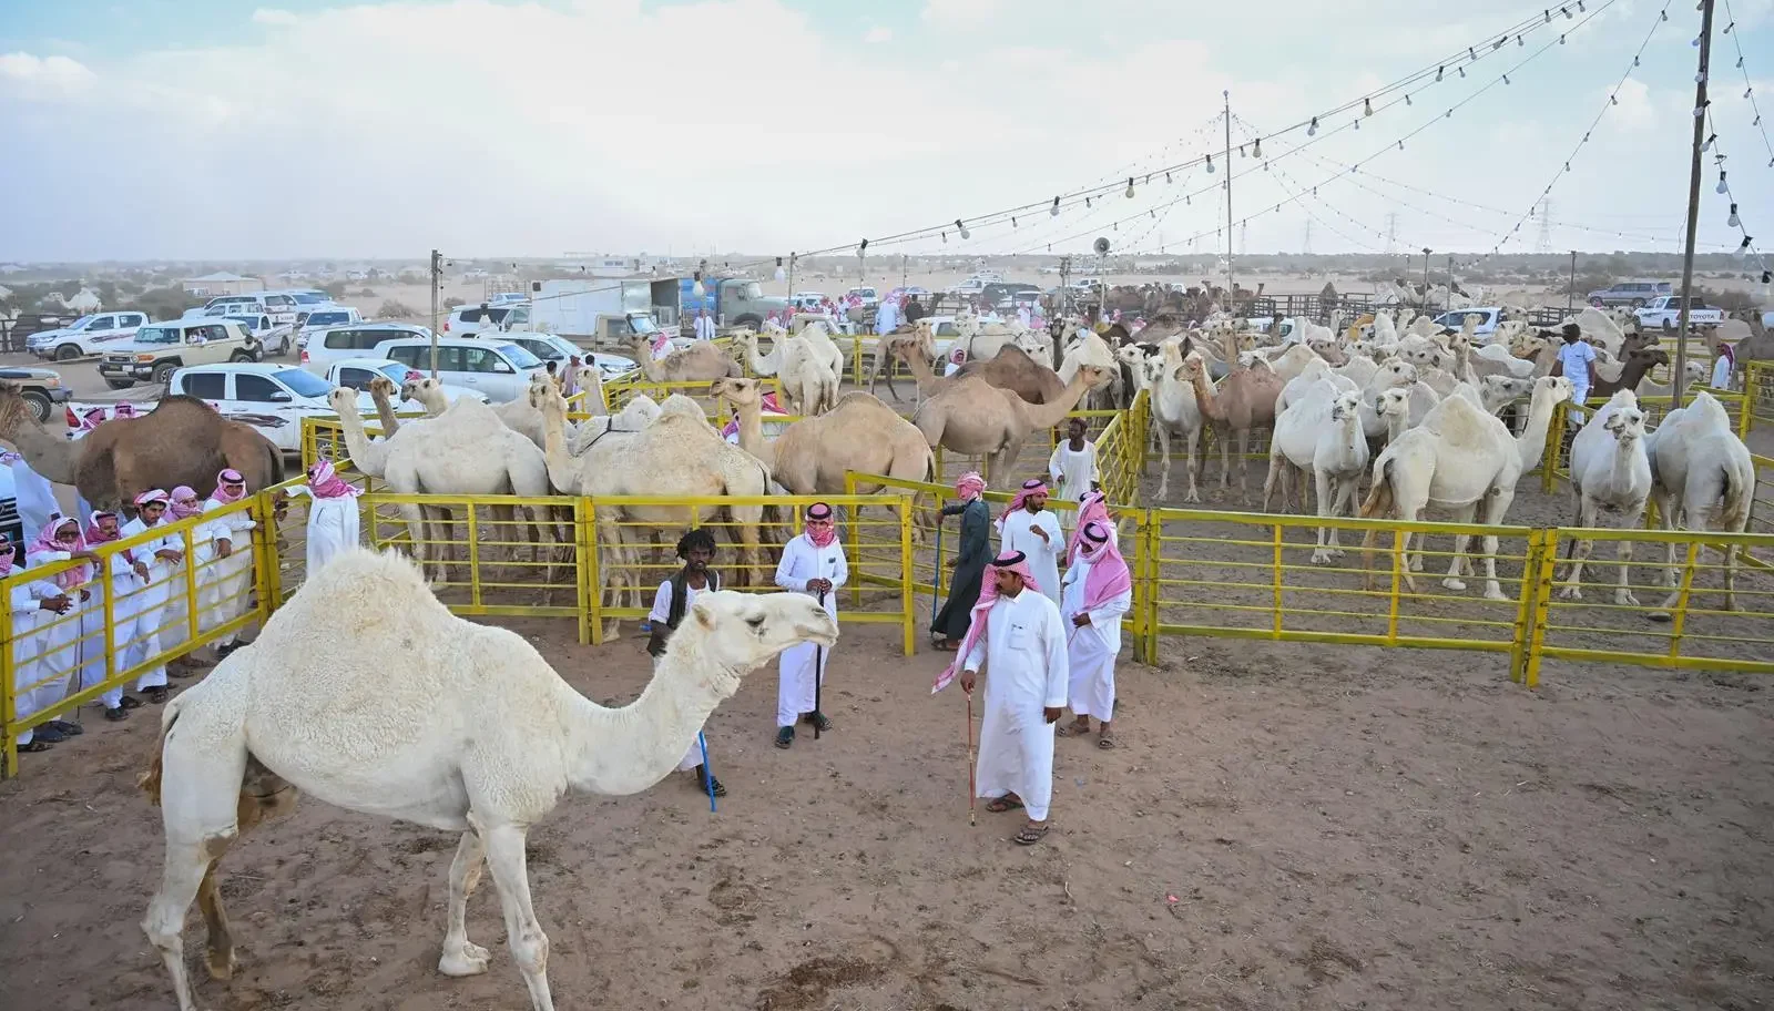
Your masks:
<instances>
[{"instance_id":1,"label":"cream camel in side view, head raised right, behind right-hand yellow fence","mask_svg":"<svg viewBox=\"0 0 1774 1011\"><path fill-rule=\"evenodd\" d=\"M1456 523L1471 523L1483 504L1487 525L1499 525L1515 500L1515 482L1533 470L1545 451L1547 426L1552 408L1570 399L1570 380L1547 376L1535 383L1533 410L1527 431L1511 438L1508 426L1485 413L1465 397L1448 397L1423 419L1423 424L1398 436L1373 461L1373 490L1361 504L1362 516L1393 514L1416 521L1426 506L1451 509ZM1442 585L1464 591L1460 560L1465 555L1467 534L1455 536L1453 560ZM1362 550L1371 562L1375 534L1362 539ZM1409 552L1410 534L1403 534L1400 552ZM1485 543L1485 596L1508 600L1497 582L1497 537ZM1368 585L1371 589L1368 573ZM1416 592L1416 578L1405 568L1405 584Z\"/></svg>"}]
</instances>

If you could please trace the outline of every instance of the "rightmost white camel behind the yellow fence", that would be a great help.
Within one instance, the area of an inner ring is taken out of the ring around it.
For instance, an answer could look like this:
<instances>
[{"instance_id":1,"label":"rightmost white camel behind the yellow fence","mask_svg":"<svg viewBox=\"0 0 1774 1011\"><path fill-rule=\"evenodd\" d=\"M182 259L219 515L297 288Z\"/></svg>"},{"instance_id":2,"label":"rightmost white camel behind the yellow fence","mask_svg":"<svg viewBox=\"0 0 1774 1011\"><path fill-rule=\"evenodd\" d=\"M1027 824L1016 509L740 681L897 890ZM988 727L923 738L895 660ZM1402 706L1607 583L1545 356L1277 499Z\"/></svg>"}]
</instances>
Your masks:
<instances>
[{"instance_id":1,"label":"rightmost white camel behind the yellow fence","mask_svg":"<svg viewBox=\"0 0 1774 1011\"><path fill-rule=\"evenodd\" d=\"M1652 465L1652 502L1664 530L1723 530L1742 534L1749 527L1749 509L1756 495L1756 463L1744 440L1731 431L1731 417L1712 394L1701 390L1685 408L1664 415L1644 438L1644 456ZM1717 511L1717 518L1714 518ZM1724 550L1724 608L1737 605L1737 555ZM1664 559L1664 585L1669 600L1653 619L1668 621L1676 605L1675 543Z\"/></svg>"}]
</instances>

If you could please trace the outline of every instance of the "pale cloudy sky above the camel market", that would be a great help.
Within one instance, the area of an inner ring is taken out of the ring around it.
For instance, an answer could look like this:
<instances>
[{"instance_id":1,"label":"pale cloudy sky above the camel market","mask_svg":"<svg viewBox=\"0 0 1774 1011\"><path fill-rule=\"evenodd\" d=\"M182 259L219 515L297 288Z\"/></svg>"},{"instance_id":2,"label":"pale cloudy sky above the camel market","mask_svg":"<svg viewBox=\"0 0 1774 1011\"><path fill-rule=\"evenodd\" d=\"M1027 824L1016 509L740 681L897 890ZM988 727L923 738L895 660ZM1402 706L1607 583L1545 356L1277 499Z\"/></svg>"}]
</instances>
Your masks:
<instances>
[{"instance_id":1,"label":"pale cloudy sky above the camel market","mask_svg":"<svg viewBox=\"0 0 1774 1011\"><path fill-rule=\"evenodd\" d=\"M1212 252L1222 92L1240 252L1673 250L1684 227L1687 0L273 4L0 0L0 259ZM1774 245L1774 0L1715 20L1699 243L1740 241L1723 151ZM1164 183L1205 154L1215 174Z\"/></svg>"}]
</instances>

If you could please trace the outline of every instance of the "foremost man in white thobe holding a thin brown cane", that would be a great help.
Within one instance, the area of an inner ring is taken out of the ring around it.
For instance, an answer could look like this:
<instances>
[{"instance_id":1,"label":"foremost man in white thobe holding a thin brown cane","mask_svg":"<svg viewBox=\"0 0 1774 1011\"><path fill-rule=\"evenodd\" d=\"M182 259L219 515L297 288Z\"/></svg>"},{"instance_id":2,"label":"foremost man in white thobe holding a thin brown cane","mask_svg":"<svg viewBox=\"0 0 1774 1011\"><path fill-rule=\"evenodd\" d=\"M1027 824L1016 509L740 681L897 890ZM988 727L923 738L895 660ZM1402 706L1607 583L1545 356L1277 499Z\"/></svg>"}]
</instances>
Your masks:
<instances>
[{"instance_id":1,"label":"foremost man in white thobe holding a thin brown cane","mask_svg":"<svg viewBox=\"0 0 1774 1011\"><path fill-rule=\"evenodd\" d=\"M1020 553L992 562L995 594L981 594L970 646L962 656L962 690L972 694L981 663L986 669L985 718L979 725L979 770L974 786L988 798L986 811L1018 807L1029 825L1015 835L1032 846L1047 835L1047 809L1054 798L1054 724L1066 704L1066 633L1054 601L1040 592Z\"/></svg>"}]
</instances>

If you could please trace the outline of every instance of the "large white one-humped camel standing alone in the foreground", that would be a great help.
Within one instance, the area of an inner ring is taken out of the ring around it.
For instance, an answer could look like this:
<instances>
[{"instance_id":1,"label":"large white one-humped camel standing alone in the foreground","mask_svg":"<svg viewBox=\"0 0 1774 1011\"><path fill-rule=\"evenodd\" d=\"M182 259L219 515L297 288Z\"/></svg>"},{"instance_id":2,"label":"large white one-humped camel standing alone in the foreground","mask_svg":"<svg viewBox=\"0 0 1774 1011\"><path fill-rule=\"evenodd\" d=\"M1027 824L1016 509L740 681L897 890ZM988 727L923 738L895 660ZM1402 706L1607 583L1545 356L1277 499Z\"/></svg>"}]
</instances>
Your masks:
<instances>
[{"instance_id":1,"label":"large white one-humped camel standing alone in the foreground","mask_svg":"<svg viewBox=\"0 0 1774 1011\"><path fill-rule=\"evenodd\" d=\"M740 679L800 642L837 642L837 623L805 594L697 594L648 688L607 709L573 692L522 635L452 615L399 555L335 557L254 644L161 715L142 789L160 803L167 855L142 931L179 1009L197 1007L181 937L192 899L209 926L209 974L227 979L234 944L216 864L243 830L307 791L346 811L459 832L438 972L488 968L486 949L467 937L484 858L530 1009L552 1011L548 937L523 853L530 827L569 791L623 796L665 779Z\"/></svg>"}]
</instances>

